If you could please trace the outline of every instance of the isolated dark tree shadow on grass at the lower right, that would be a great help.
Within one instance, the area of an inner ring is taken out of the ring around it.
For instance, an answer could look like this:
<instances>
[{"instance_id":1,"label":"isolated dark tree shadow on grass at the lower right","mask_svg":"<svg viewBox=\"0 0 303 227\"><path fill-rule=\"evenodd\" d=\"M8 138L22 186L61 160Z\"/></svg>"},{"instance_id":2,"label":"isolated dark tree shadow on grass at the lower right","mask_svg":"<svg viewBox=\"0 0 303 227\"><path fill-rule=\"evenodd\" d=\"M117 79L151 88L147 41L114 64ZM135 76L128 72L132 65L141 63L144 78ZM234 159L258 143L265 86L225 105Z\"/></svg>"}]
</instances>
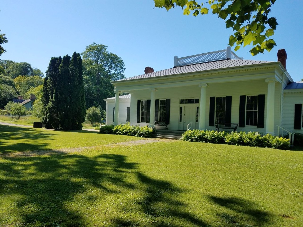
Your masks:
<instances>
[{"instance_id":1,"label":"isolated dark tree shadow on grass at the lower right","mask_svg":"<svg viewBox=\"0 0 303 227\"><path fill-rule=\"evenodd\" d=\"M264 226L273 223L274 215L259 209L253 201L240 197L219 196L208 196L208 199L232 211L231 213L217 214L229 226Z\"/></svg>"}]
</instances>

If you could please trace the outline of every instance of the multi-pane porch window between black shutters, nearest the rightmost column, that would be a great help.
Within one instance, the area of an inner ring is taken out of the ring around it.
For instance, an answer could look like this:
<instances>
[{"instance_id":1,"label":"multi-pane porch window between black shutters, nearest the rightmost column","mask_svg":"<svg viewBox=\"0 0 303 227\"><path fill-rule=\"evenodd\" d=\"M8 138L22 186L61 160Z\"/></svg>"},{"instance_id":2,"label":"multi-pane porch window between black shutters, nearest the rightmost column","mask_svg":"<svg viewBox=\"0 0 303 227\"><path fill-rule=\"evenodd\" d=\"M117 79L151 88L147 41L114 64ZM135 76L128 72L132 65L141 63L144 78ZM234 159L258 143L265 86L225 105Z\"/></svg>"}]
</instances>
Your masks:
<instances>
[{"instance_id":1,"label":"multi-pane porch window between black shutters, nearest the rightmost column","mask_svg":"<svg viewBox=\"0 0 303 227\"><path fill-rule=\"evenodd\" d=\"M246 96L246 125L257 126L258 95Z\"/></svg>"}]
</instances>

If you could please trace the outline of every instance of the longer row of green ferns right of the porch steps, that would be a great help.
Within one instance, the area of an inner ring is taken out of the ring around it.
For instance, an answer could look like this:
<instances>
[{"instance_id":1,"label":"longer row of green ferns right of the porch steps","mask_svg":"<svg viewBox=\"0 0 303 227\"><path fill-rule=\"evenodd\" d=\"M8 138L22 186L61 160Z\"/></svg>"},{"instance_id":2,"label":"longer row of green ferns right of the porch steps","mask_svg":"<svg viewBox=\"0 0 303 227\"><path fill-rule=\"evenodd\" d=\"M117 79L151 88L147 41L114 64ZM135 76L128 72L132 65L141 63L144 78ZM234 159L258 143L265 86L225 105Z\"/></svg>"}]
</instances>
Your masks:
<instances>
[{"instance_id":1,"label":"longer row of green ferns right of the porch steps","mask_svg":"<svg viewBox=\"0 0 303 227\"><path fill-rule=\"evenodd\" d=\"M218 132L204 130L188 130L182 134L181 140L204 143L226 143L231 145L270 147L289 149L289 139L269 134L262 136L258 132Z\"/></svg>"}]
</instances>

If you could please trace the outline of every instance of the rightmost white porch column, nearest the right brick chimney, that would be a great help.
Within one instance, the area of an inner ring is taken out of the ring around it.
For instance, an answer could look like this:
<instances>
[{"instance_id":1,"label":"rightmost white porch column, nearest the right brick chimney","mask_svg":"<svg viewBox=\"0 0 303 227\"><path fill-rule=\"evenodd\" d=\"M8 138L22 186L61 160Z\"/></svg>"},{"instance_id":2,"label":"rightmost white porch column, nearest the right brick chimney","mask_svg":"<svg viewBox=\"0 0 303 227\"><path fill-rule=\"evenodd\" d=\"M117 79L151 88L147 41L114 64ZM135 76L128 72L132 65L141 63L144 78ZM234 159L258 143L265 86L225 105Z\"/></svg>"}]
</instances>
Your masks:
<instances>
[{"instance_id":1,"label":"rightmost white porch column, nearest the right brick chimney","mask_svg":"<svg viewBox=\"0 0 303 227\"><path fill-rule=\"evenodd\" d=\"M274 134L275 128L275 83L276 78L266 78L267 85L267 110L266 110L266 132L271 135Z\"/></svg>"}]
</instances>

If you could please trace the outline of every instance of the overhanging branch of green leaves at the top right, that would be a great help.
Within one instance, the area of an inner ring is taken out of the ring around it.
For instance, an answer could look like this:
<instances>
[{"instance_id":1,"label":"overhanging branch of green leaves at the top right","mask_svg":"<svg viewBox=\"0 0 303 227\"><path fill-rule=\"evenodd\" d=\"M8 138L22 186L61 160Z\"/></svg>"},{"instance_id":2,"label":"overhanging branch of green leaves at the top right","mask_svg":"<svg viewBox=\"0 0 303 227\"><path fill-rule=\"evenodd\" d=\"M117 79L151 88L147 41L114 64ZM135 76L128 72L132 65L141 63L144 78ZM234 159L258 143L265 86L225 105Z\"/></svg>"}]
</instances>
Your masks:
<instances>
[{"instance_id":1,"label":"overhanging branch of green leaves at the top right","mask_svg":"<svg viewBox=\"0 0 303 227\"><path fill-rule=\"evenodd\" d=\"M194 16L217 14L226 23L226 28L232 28L234 34L229 37L229 45L237 51L242 45L252 44L250 53L256 55L264 50L271 51L276 46L270 38L275 34L278 25L276 18L269 17L271 6L276 0L209 0L207 3L197 3L195 0L154 0L155 7L170 10L175 6L183 9L184 15ZM208 4L208 7L205 6Z\"/></svg>"}]
</instances>

